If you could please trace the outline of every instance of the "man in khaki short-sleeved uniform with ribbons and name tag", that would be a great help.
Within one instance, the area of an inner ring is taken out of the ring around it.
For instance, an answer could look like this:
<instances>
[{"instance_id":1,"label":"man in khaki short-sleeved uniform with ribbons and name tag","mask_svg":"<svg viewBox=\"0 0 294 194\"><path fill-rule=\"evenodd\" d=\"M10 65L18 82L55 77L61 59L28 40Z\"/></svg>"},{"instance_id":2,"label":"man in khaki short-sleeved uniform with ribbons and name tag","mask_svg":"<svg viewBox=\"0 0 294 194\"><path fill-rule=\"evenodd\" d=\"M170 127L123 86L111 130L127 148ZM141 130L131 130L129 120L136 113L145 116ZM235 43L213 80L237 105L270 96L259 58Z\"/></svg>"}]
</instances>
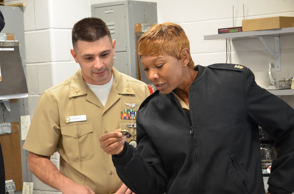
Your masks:
<instances>
[{"instance_id":1,"label":"man in khaki short-sleeved uniform with ribbons and name tag","mask_svg":"<svg viewBox=\"0 0 294 194\"><path fill-rule=\"evenodd\" d=\"M132 193L118 178L99 137L128 130L136 146L136 110L148 87L113 68L115 40L99 18L84 18L72 29L71 54L79 63L73 76L44 91L31 121L24 149L29 168L62 193ZM60 171L50 161L60 154Z\"/></svg>"}]
</instances>

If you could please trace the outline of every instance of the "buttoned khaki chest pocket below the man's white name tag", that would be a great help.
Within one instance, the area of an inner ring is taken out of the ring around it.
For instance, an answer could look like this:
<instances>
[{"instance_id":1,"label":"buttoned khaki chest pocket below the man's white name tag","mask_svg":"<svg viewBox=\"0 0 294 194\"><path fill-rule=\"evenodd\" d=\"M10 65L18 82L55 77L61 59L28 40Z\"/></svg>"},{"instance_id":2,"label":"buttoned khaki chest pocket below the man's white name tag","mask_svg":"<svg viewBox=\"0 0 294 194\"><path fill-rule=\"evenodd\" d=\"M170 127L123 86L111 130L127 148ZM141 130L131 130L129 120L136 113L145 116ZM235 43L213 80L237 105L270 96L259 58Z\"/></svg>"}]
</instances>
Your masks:
<instances>
[{"instance_id":1,"label":"buttoned khaki chest pocket below the man's white name tag","mask_svg":"<svg viewBox=\"0 0 294 194\"><path fill-rule=\"evenodd\" d=\"M92 159L94 156L93 128L91 122L74 122L61 125L62 144L72 161Z\"/></svg>"}]
</instances>

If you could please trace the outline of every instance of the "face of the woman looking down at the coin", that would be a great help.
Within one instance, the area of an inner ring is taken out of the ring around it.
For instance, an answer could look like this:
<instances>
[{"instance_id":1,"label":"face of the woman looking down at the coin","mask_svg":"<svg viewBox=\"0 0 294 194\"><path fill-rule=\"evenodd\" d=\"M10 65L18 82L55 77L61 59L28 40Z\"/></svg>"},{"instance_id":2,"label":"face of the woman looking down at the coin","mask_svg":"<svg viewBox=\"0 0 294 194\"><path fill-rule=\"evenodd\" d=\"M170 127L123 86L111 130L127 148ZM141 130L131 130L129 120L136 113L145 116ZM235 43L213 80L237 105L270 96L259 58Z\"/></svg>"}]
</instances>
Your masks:
<instances>
[{"instance_id":1,"label":"face of the woman looking down at the coin","mask_svg":"<svg viewBox=\"0 0 294 194\"><path fill-rule=\"evenodd\" d=\"M162 94L168 94L181 87L185 79L182 60L160 55L141 56L141 62L147 78Z\"/></svg>"}]
</instances>

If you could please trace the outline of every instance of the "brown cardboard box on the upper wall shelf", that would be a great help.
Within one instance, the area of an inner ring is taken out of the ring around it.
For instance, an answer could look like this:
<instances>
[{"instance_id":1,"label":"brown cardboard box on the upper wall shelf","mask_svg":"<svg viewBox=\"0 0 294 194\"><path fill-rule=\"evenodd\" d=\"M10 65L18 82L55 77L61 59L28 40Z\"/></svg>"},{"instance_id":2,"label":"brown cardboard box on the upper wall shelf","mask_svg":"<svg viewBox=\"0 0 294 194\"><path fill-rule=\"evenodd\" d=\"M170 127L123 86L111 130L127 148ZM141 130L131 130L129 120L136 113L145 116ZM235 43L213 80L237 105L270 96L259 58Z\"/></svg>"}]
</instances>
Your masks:
<instances>
[{"instance_id":1,"label":"brown cardboard box on the upper wall shelf","mask_svg":"<svg viewBox=\"0 0 294 194\"><path fill-rule=\"evenodd\" d=\"M242 31L269 30L294 27L294 17L277 16L242 20Z\"/></svg>"}]
</instances>

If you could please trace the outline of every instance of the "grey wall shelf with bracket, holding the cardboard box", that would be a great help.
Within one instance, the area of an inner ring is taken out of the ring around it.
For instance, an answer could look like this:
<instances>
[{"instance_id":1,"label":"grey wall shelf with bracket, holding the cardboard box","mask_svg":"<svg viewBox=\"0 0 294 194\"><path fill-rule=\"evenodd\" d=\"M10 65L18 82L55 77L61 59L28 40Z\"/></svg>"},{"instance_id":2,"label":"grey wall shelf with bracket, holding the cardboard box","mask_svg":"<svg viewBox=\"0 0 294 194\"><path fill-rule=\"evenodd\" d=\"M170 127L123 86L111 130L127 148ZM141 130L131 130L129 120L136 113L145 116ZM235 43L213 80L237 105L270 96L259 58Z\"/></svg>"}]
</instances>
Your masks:
<instances>
[{"instance_id":1,"label":"grey wall shelf with bracket, holding the cardboard box","mask_svg":"<svg viewBox=\"0 0 294 194\"><path fill-rule=\"evenodd\" d=\"M294 27L291 28L279 28L271 30L256 30L247 32L235 32L235 33L224 33L216 35L206 35L204 40L236 40L246 38L259 38L261 42L268 48L270 53L275 57L275 68L276 71L281 71L281 59L280 59L280 36L294 35ZM275 39L275 51L273 51L267 42L263 39L270 37Z\"/></svg>"}]
</instances>

